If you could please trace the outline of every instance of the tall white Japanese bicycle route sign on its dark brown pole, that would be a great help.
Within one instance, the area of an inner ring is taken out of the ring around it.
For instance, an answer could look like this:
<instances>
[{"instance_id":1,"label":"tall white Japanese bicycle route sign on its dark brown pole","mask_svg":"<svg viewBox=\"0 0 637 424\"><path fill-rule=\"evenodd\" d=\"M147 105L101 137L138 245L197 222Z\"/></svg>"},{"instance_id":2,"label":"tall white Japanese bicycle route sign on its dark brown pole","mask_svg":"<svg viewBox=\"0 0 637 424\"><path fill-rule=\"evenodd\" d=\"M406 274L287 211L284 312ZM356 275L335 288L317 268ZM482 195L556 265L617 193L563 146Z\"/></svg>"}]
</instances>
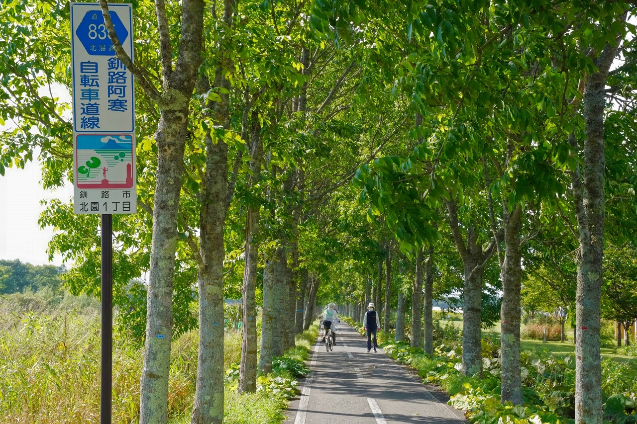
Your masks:
<instances>
[{"instance_id":1,"label":"tall white Japanese bicycle route sign on its dark brown pole","mask_svg":"<svg viewBox=\"0 0 637 424\"><path fill-rule=\"evenodd\" d=\"M132 6L108 4L115 33L132 59ZM136 213L133 77L117 59L97 3L71 2L73 208L101 214L102 348L100 423L111 424L113 216Z\"/></svg>"}]
</instances>

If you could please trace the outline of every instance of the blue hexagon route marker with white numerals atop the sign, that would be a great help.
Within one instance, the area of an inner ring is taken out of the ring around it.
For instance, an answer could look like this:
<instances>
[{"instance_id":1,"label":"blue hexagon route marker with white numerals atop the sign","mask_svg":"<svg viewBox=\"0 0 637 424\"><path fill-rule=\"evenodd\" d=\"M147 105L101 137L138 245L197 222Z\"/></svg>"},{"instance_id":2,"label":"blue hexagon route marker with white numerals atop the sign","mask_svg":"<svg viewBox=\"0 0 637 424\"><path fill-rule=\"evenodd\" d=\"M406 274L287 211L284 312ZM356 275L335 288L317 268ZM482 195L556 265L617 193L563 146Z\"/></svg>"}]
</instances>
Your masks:
<instances>
[{"instance_id":1,"label":"blue hexagon route marker with white numerals atop the sign","mask_svg":"<svg viewBox=\"0 0 637 424\"><path fill-rule=\"evenodd\" d=\"M115 27L115 34L117 34L120 44L124 45L124 41L128 37L128 31L126 31L126 27L118 17L117 12L111 10L110 14L113 27ZM115 56L115 47L108 36L108 31L106 31L101 9L87 11L82 18L82 22L75 30L75 34L89 55Z\"/></svg>"}]
</instances>

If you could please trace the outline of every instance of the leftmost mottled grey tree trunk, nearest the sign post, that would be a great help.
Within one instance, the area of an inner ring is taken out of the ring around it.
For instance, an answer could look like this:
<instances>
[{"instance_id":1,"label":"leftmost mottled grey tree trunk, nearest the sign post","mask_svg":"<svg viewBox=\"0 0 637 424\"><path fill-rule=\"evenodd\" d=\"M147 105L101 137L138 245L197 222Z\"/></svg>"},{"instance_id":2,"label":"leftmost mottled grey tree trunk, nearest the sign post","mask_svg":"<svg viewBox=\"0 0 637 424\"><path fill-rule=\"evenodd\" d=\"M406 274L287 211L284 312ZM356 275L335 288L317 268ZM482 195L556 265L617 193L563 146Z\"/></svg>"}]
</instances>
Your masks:
<instances>
[{"instance_id":1,"label":"leftmost mottled grey tree trunk, nearest the sign post","mask_svg":"<svg viewBox=\"0 0 637 424\"><path fill-rule=\"evenodd\" d=\"M105 2L101 7L106 8ZM182 3L182 40L173 71L171 60L162 61L166 104L157 141L157 179L153 207L152 243L147 293L147 325L144 364L140 379L140 424L163 423L168 416L168 378L173 340L173 273L177 237L177 213L182 187L183 153L187 138L189 101L201 65L204 2ZM157 14L163 11L158 7ZM108 13L106 13L108 15ZM111 25L110 25L111 26ZM112 27L108 31L114 31ZM165 32L162 35L168 36ZM161 52L165 59L169 52ZM120 58L121 59L121 58Z\"/></svg>"}]
</instances>

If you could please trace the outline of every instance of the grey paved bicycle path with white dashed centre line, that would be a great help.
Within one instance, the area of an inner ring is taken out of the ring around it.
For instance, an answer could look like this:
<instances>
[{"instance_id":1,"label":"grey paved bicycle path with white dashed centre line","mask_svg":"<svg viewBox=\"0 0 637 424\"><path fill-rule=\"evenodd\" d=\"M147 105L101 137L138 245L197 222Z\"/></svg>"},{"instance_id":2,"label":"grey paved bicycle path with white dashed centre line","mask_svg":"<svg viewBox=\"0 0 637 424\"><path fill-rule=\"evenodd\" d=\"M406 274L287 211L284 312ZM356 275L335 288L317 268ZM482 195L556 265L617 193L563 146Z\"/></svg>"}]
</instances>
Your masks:
<instances>
[{"instance_id":1,"label":"grey paved bicycle path with white dashed centre line","mask_svg":"<svg viewBox=\"0 0 637 424\"><path fill-rule=\"evenodd\" d=\"M334 351L314 346L312 373L286 413L286 424L465 424L464 414L436 399L404 365L382 349L367 353L365 338L345 322Z\"/></svg>"}]
</instances>

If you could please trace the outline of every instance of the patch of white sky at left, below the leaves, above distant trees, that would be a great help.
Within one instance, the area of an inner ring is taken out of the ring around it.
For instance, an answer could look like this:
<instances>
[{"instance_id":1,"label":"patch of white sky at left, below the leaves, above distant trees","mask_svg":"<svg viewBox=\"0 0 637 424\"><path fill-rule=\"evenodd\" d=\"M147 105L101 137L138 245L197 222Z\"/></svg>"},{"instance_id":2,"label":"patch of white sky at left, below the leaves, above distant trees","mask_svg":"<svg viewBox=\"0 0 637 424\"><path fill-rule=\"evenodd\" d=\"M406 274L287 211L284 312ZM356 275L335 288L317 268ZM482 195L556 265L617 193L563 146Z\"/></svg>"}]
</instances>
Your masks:
<instances>
[{"instance_id":1,"label":"patch of white sky at left, below the leaves, above distant trees","mask_svg":"<svg viewBox=\"0 0 637 424\"><path fill-rule=\"evenodd\" d=\"M36 155L34 155L36 156ZM0 176L0 259L19 259L33 265L62 264L61 257L48 262L47 243L53 229L40 229L38 218L44 210L41 199L56 197L68 202L73 186L51 192L41 187L38 162L29 162L24 169L5 168Z\"/></svg>"}]
</instances>

